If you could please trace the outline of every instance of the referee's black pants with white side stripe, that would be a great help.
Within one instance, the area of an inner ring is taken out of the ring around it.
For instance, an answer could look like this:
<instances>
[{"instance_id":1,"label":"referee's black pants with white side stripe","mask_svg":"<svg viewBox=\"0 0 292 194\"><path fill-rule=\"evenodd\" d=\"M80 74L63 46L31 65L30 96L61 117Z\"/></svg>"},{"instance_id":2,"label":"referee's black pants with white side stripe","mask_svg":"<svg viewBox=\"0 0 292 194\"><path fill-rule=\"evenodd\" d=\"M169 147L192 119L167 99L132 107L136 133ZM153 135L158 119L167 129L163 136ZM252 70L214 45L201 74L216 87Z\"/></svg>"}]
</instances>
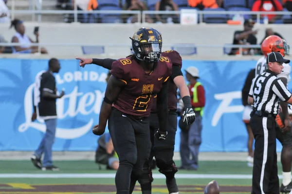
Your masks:
<instances>
[{"instance_id":1,"label":"referee's black pants with white side stripe","mask_svg":"<svg viewBox=\"0 0 292 194\"><path fill-rule=\"evenodd\" d=\"M252 194L279 194L275 119L253 115L250 124L255 136Z\"/></svg>"}]
</instances>

